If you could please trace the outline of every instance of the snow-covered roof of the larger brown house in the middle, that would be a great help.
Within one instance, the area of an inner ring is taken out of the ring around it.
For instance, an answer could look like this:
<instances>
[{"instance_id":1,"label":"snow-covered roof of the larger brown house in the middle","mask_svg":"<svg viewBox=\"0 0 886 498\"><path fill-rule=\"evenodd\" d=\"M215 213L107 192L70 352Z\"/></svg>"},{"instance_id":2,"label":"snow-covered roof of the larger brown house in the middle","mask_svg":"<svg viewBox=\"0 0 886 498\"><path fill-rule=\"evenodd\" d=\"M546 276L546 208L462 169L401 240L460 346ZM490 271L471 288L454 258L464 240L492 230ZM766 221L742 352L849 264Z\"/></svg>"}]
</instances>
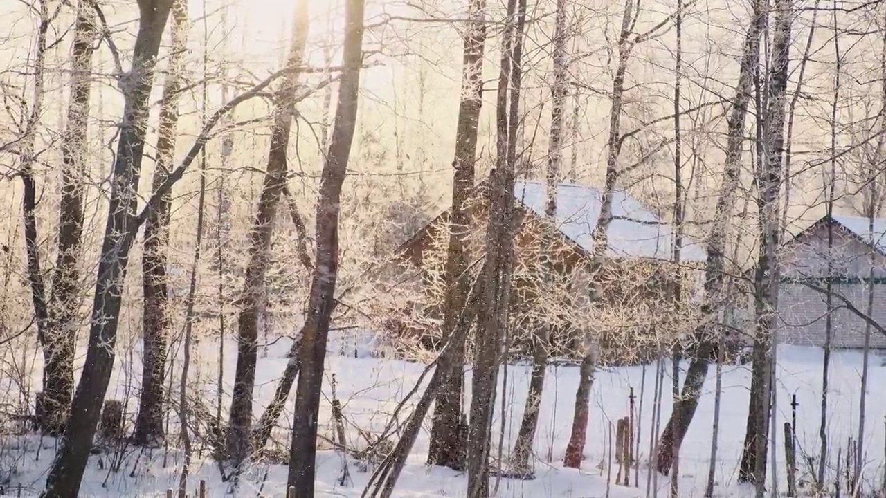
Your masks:
<instances>
[{"instance_id":1,"label":"snow-covered roof of the larger brown house in the middle","mask_svg":"<svg viewBox=\"0 0 886 498\"><path fill-rule=\"evenodd\" d=\"M517 181L514 195L518 201L542 218L547 204L545 183ZM587 253L594 246L592 233L600 217L601 191L576 183L559 183L556 187L556 223L563 236ZM673 231L668 223L642 206L624 191L613 192L612 220L609 230L610 257L672 259ZM702 245L683 237L681 261L704 261Z\"/></svg>"}]
</instances>

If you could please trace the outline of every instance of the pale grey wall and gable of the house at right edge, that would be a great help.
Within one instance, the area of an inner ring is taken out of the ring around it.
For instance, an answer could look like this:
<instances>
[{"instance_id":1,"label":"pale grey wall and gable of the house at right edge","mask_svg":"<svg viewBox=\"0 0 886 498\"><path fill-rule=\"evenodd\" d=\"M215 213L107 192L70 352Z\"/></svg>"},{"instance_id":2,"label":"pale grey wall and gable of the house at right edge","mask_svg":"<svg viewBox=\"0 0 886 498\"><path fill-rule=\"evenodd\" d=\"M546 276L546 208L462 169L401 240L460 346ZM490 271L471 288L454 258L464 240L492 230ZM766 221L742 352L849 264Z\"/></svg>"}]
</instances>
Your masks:
<instances>
[{"instance_id":1,"label":"pale grey wall and gable of the house at right edge","mask_svg":"<svg viewBox=\"0 0 886 498\"><path fill-rule=\"evenodd\" d=\"M837 227L833 230L833 276L842 281L832 284L832 291L867 311L867 284L863 280L874 270L874 279L886 278L886 257L872 253L857 237ZM872 260L873 257L873 260ZM822 224L797 237L782 254L782 278L825 278L828 276L828 226ZM886 326L886 283L874 280L872 317ZM825 283L816 282L821 286ZM864 346L866 322L833 299L831 314L834 347ZM779 289L779 341L798 346L824 346L828 305L826 296L804 284L782 282ZM886 336L872 329L871 346L886 348Z\"/></svg>"}]
</instances>

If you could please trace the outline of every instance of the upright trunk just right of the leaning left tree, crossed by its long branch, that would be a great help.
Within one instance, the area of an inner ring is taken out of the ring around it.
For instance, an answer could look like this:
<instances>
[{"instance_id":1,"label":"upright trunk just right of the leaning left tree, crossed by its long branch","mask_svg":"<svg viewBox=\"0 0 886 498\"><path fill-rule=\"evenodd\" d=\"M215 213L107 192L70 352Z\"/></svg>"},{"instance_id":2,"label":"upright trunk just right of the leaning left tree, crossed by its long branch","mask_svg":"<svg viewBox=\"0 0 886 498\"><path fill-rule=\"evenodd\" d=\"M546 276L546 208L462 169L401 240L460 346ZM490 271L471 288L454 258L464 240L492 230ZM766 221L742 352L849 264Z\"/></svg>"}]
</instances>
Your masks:
<instances>
[{"instance_id":1,"label":"upright trunk just right of the leaning left tree, crossed by its long branch","mask_svg":"<svg viewBox=\"0 0 886 498\"><path fill-rule=\"evenodd\" d=\"M167 81L163 87L160 105L160 123L157 133L157 161L154 167L152 191L166 181L175 156L175 136L178 128L178 96L183 85L184 56L188 44L188 12L183 0L175 0L172 7L172 52L169 56ZM169 209L172 192L160 198L144 225L144 252L142 253L142 289L144 306L142 331L144 334L144 366L142 392L136 416L136 444L153 445L163 438L163 385L166 382L167 331L167 245L169 243Z\"/></svg>"}]
</instances>

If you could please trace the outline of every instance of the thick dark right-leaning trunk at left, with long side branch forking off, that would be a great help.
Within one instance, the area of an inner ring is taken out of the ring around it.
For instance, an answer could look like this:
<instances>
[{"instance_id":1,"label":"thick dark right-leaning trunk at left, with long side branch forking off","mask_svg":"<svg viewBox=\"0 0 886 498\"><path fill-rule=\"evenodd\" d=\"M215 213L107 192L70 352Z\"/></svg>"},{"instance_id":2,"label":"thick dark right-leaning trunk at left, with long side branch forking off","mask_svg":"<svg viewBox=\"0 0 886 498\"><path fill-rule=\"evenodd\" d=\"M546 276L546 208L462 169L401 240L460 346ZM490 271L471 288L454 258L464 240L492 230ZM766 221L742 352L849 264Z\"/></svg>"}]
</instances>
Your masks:
<instances>
[{"instance_id":1,"label":"thick dark right-leaning trunk at left, with long side branch forking off","mask_svg":"<svg viewBox=\"0 0 886 498\"><path fill-rule=\"evenodd\" d=\"M97 268L89 349L71 408L71 413L77 416L67 420L61 447L46 478L43 494L46 498L74 498L79 494L102 400L113 370L122 284L134 239L130 226L135 222L136 188L144 152L154 64L172 0L140 0L138 6L140 17L132 69L120 83L124 89L124 116L113 165L105 239Z\"/></svg>"}]
</instances>

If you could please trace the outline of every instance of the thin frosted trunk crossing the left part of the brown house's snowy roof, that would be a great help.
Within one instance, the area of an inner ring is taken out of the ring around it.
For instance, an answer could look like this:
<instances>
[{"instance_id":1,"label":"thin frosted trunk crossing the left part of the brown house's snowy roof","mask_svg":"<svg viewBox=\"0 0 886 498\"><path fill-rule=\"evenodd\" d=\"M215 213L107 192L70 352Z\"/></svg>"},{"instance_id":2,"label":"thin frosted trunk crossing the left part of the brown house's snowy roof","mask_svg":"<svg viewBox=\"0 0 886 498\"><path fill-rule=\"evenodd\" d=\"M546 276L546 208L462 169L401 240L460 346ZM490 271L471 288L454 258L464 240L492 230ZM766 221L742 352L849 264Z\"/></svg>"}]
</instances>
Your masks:
<instances>
[{"instance_id":1,"label":"thin frosted trunk crossing the left part of the brown house's snowy roof","mask_svg":"<svg viewBox=\"0 0 886 498\"><path fill-rule=\"evenodd\" d=\"M566 112L566 1L557 0L556 17L554 21L554 83L551 88L551 128L548 142L548 175L547 175L547 206L545 216L550 222L556 223L556 196L558 185L563 174L563 135ZM541 237L540 247L540 284L550 284L559 280L556 275L556 262L554 259L555 247L553 239L545 232ZM544 288L540 289L544 292ZM514 444L514 453L511 457L512 471L528 475L529 456L532 454L532 442L535 440L535 431L539 424L539 412L541 395L545 385L545 371L548 369L548 349L550 347L551 325L538 323L534 327L535 337L532 354L532 377L529 380L529 393L526 394L523 409L523 420L517 433L517 442Z\"/></svg>"}]
</instances>

